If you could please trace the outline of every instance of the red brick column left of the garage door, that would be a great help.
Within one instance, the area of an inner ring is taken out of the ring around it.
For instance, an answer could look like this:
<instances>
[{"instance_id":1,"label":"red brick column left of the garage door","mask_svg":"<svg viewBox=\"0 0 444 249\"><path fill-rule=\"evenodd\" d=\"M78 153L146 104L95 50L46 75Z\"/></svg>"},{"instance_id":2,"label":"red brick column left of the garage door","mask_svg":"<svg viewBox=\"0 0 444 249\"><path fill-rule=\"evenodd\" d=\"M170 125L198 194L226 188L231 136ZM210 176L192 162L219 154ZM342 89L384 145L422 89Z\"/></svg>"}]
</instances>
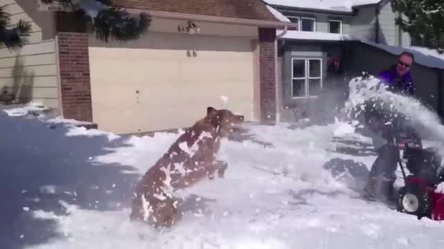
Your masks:
<instances>
[{"instance_id":1,"label":"red brick column left of the garage door","mask_svg":"<svg viewBox=\"0 0 444 249\"><path fill-rule=\"evenodd\" d=\"M58 33L57 46L63 116L92 122L88 36Z\"/></svg>"}]
</instances>

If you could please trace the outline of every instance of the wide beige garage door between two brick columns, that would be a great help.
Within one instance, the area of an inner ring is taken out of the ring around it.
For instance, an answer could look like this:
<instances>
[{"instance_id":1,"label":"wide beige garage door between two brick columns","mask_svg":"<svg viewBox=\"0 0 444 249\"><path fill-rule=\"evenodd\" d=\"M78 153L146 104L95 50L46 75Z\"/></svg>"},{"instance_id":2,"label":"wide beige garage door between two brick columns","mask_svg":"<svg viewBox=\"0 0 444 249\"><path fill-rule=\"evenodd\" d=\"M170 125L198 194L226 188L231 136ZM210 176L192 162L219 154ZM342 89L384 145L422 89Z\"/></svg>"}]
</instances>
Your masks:
<instances>
[{"instance_id":1,"label":"wide beige garage door between two brick columns","mask_svg":"<svg viewBox=\"0 0 444 249\"><path fill-rule=\"evenodd\" d=\"M249 38L173 33L90 46L94 122L115 133L176 129L224 104L255 120L252 51Z\"/></svg>"}]
</instances>

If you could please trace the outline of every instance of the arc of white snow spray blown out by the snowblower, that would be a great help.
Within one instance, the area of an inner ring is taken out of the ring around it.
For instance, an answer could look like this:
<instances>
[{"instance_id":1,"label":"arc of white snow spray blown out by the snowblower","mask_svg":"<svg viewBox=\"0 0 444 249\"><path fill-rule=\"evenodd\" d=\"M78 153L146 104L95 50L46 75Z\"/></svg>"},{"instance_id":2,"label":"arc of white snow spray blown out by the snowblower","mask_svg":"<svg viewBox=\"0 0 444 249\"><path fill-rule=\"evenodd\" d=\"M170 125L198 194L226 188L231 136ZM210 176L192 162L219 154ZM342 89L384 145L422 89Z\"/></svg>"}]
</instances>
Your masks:
<instances>
[{"instance_id":1,"label":"arc of white snow spray blown out by the snowblower","mask_svg":"<svg viewBox=\"0 0 444 249\"><path fill-rule=\"evenodd\" d=\"M355 77L350 80L350 94L342 110L348 118L356 119L359 113L364 110L366 100L378 98L384 104L389 104L391 110L402 113L411 120L414 127L419 125L422 130L417 131L418 133L428 133L433 136L434 140L444 142L444 126L435 111L425 107L416 98L388 91L379 82L379 79L373 76Z\"/></svg>"}]
</instances>

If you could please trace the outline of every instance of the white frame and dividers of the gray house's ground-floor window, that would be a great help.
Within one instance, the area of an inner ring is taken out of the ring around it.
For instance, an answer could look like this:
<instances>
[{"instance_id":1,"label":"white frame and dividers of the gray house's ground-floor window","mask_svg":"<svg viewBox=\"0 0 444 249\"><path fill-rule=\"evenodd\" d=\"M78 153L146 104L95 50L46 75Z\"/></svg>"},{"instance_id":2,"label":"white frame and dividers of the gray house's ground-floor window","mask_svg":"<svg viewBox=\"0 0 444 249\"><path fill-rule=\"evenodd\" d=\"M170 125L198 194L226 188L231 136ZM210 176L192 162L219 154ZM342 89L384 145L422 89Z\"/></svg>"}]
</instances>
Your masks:
<instances>
[{"instance_id":1,"label":"white frame and dividers of the gray house's ground-floor window","mask_svg":"<svg viewBox=\"0 0 444 249\"><path fill-rule=\"evenodd\" d=\"M305 77L293 77L293 62L296 59L303 60L305 62ZM318 77L310 77L310 60L318 60L320 62L320 76ZM291 58L291 99L293 100L300 100L300 99L308 99L308 98L318 98L318 95L309 95L309 80L320 80L320 89L323 89L323 65L322 65L323 59L321 57L318 58L309 58L309 57L292 57ZM301 96L294 96L293 95L293 80L305 80L305 94Z\"/></svg>"}]
</instances>

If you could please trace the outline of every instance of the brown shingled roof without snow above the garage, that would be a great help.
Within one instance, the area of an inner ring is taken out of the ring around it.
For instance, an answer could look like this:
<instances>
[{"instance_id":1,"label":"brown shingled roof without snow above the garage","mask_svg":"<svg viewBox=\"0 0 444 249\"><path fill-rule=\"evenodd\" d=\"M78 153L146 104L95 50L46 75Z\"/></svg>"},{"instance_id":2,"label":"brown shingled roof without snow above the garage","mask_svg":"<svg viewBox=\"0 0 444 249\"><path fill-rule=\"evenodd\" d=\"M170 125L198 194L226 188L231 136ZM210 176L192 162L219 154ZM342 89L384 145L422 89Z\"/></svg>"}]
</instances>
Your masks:
<instances>
[{"instance_id":1,"label":"brown shingled roof without snow above the garage","mask_svg":"<svg viewBox=\"0 0 444 249\"><path fill-rule=\"evenodd\" d=\"M123 8L279 21L261 0L116 0Z\"/></svg>"}]
</instances>

